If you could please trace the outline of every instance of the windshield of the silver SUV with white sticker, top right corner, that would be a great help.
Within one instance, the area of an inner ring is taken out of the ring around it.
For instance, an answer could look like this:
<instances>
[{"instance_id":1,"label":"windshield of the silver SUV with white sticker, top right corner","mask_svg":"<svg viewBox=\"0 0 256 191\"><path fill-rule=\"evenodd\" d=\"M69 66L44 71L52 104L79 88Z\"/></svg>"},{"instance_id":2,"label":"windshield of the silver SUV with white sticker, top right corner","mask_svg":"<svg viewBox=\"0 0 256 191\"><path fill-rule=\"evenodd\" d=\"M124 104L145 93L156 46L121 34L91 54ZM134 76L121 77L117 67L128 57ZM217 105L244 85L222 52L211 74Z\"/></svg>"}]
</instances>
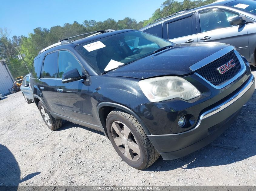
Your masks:
<instances>
[{"instance_id":1,"label":"windshield of the silver SUV with white sticker, top right corner","mask_svg":"<svg viewBox=\"0 0 256 191\"><path fill-rule=\"evenodd\" d=\"M226 5L242 9L244 11L250 12L252 14L256 14L256 1L251 0L242 0L242 1L233 1L227 3Z\"/></svg>"}]
</instances>

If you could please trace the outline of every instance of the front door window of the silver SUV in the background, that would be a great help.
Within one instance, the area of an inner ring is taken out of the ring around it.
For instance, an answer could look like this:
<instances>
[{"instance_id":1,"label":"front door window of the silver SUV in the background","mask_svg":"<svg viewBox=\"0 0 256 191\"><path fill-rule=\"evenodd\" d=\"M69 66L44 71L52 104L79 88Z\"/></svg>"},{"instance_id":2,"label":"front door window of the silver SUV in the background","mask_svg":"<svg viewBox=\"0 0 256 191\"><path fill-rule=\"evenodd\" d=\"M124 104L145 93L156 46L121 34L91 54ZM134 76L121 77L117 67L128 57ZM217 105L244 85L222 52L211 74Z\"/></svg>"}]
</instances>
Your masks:
<instances>
[{"instance_id":1,"label":"front door window of the silver SUV in the background","mask_svg":"<svg viewBox=\"0 0 256 191\"><path fill-rule=\"evenodd\" d=\"M223 10L210 10L199 13L201 32L231 27L229 20L239 14Z\"/></svg>"}]
</instances>

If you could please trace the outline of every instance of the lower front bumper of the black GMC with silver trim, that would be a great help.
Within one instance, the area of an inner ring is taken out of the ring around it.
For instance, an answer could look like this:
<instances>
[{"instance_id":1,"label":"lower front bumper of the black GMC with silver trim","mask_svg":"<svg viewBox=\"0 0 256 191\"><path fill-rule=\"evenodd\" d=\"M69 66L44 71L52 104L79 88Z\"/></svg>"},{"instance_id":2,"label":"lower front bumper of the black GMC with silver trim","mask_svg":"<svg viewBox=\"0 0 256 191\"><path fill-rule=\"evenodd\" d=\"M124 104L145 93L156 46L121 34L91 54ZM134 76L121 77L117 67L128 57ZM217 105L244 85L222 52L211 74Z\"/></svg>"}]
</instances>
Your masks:
<instances>
[{"instance_id":1,"label":"lower front bumper of the black GMC with silver trim","mask_svg":"<svg viewBox=\"0 0 256 191\"><path fill-rule=\"evenodd\" d=\"M254 87L254 76L250 75L234 96L202 113L193 129L176 134L148 135L148 138L164 160L190 154L211 143L227 129L250 99Z\"/></svg>"}]
</instances>

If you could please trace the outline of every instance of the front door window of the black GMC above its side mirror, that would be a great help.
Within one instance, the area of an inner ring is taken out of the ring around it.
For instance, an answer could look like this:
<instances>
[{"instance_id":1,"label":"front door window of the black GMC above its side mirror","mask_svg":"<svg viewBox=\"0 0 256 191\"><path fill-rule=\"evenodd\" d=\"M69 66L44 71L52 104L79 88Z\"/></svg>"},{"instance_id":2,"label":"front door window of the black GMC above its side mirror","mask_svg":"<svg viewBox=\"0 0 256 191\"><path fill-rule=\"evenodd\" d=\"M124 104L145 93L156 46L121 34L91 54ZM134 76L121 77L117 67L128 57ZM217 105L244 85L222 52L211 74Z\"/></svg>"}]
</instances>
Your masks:
<instances>
[{"instance_id":1,"label":"front door window of the black GMC above its side mirror","mask_svg":"<svg viewBox=\"0 0 256 191\"><path fill-rule=\"evenodd\" d=\"M81 66L78 60L70 52L62 50L59 51L58 69L59 77L70 70L77 68L80 76L85 75L85 69Z\"/></svg>"}]
</instances>

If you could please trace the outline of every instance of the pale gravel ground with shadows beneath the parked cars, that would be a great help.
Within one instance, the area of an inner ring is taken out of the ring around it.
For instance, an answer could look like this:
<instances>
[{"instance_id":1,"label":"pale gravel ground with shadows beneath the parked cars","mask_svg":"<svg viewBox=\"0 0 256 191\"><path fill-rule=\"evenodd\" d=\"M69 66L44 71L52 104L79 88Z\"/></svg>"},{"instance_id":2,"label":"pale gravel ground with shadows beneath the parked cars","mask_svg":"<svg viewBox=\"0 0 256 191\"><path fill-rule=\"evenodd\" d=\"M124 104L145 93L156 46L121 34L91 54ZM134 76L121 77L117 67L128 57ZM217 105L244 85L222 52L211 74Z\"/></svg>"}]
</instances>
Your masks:
<instances>
[{"instance_id":1,"label":"pale gravel ground with shadows beneath the parked cars","mask_svg":"<svg viewBox=\"0 0 256 191\"><path fill-rule=\"evenodd\" d=\"M254 75L256 74L255 68ZM101 132L66 122L44 124L21 92L0 101L1 185L256 185L256 91L235 122L214 143L146 170L128 166Z\"/></svg>"}]
</instances>

